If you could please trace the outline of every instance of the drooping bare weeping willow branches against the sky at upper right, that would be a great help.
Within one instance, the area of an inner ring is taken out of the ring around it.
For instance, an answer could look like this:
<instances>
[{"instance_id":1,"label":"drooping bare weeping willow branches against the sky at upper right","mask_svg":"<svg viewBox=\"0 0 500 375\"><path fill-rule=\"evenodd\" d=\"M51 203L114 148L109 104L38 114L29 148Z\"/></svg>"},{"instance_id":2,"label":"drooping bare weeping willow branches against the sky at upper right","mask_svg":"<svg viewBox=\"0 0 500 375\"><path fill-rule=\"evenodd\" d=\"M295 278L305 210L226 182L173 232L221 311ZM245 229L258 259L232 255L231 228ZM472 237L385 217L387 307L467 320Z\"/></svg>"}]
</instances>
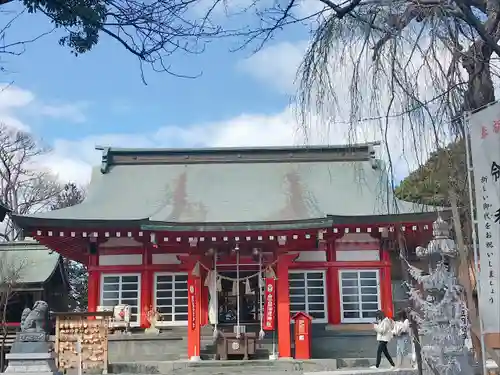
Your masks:
<instances>
[{"instance_id":1,"label":"drooping bare weeping willow branches against the sky at upper right","mask_svg":"<svg viewBox=\"0 0 500 375\"><path fill-rule=\"evenodd\" d=\"M375 0L360 2L347 17L325 17L299 69L305 131L311 112L327 128L344 124L352 142L370 126L391 145L391 174L395 144L400 157L412 159L411 168L423 165L432 152L463 139L464 111L495 100L498 7L495 1ZM454 164L460 158L448 160L447 173L461 170ZM465 176L440 178L465 191Z\"/></svg>"}]
</instances>

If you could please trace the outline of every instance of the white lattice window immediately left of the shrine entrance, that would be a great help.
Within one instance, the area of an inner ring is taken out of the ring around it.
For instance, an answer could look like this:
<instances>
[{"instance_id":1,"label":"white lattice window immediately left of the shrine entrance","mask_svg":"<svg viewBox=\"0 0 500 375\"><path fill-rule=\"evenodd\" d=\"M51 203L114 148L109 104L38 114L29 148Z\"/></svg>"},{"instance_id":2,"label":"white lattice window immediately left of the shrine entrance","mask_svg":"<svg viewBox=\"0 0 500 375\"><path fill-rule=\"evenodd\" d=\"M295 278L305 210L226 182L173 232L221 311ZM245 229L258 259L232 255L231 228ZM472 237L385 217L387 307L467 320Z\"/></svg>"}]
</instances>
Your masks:
<instances>
[{"instance_id":1,"label":"white lattice window immediately left of the shrine entrance","mask_svg":"<svg viewBox=\"0 0 500 375\"><path fill-rule=\"evenodd\" d=\"M161 314L162 325L187 325L188 322L187 273L156 273L154 302Z\"/></svg>"}]
</instances>

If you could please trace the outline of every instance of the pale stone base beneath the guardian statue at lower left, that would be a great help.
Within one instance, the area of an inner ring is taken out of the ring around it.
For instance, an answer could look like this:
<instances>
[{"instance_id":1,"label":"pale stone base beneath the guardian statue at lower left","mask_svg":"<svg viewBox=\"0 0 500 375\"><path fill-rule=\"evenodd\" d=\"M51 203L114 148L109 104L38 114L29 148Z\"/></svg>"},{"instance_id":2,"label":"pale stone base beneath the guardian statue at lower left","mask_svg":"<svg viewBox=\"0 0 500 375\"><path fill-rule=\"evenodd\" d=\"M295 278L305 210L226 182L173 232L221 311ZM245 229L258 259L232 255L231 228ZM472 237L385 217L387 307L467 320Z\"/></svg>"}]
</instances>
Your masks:
<instances>
[{"instance_id":1,"label":"pale stone base beneath the guardian statue at lower left","mask_svg":"<svg viewBox=\"0 0 500 375\"><path fill-rule=\"evenodd\" d=\"M9 353L5 355L9 365L5 373L16 374L59 374L57 370L54 353Z\"/></svg>"}]
</instances>

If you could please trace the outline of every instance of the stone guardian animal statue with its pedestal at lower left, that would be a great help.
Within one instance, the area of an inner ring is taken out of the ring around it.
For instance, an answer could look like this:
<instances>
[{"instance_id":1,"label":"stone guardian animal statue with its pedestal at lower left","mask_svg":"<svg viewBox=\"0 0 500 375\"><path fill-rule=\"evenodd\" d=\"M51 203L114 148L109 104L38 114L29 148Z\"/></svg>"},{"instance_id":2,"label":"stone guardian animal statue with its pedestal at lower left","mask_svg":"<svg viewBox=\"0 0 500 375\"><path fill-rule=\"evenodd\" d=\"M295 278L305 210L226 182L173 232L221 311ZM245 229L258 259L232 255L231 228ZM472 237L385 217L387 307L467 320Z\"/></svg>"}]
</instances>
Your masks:
<instances>
[{"instance_id":1,"label":"stone guardian animal statue with its pedestal at lower left","mask_svg":"<svg viewBox=\"0 0 500 375\"><path fill-rule=\"evenodd\" d=\"M54 359L55 353L45 331L47 324L47 302L37 301L33 309L24 309L21 315L21 332L16 334L10 353L5 356L8 361L5 373L59 374Z\"/></svg>"}]
</instances>

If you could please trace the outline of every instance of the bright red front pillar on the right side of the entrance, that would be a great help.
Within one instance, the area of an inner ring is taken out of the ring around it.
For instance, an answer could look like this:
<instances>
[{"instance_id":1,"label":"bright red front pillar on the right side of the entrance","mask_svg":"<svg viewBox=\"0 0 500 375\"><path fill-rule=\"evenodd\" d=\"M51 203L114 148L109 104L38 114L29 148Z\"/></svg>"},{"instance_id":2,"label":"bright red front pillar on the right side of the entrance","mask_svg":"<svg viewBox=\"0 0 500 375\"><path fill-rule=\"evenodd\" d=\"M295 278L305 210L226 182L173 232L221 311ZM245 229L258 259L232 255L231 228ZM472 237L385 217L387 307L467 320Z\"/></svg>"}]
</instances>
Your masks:
<instances>
[{"instance_id":1,"label":"bright red front pillar on the right side of the entrance","mask_svg":"<svg viewBox=\"0 0 500 375\"><path fill-rule=\"evenodd\" d=\"M280 254L276 265L277 320L278 320L278 354L280 358L292 356L290 333L290 286L288 268L299 254Z\"/></svg>"}]
</instances>

